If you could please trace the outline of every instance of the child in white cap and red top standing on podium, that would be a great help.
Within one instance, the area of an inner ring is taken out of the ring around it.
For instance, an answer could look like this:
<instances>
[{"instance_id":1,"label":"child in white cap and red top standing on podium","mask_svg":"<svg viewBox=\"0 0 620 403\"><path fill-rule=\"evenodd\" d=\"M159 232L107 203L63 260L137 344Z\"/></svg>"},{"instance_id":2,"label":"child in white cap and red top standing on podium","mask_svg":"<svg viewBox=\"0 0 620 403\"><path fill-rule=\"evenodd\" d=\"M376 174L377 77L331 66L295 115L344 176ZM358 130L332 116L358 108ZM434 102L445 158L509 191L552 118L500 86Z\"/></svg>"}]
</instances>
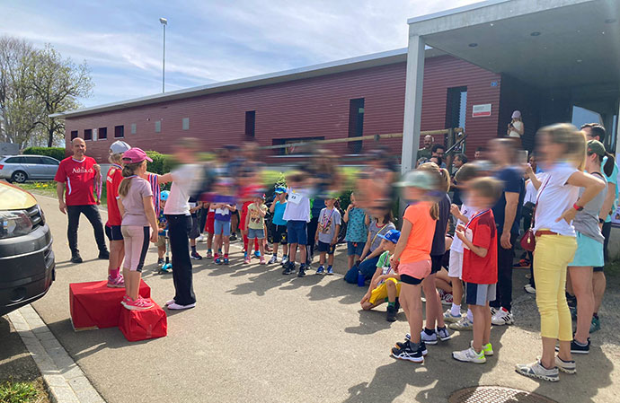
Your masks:
<instances>
[{"instance_id":1,"label":"child in white cap and red top standing on podium","mask_svg":"<svg viewBox=\"0 0 620 403\"><path fill-rule=\"evenodd\" d=\"M119 211L119 187L123 180L122 156L131 148L124 141L115 141L110 146L108 161L112 164L105 180L108 200L108 222L105 223L105 234L110 240L110 263L108 265L108 286L122 288L125 280L120 274L120 264L125 255L125 244L120 232L122 217Z\"/></svg>"}]
</instances>

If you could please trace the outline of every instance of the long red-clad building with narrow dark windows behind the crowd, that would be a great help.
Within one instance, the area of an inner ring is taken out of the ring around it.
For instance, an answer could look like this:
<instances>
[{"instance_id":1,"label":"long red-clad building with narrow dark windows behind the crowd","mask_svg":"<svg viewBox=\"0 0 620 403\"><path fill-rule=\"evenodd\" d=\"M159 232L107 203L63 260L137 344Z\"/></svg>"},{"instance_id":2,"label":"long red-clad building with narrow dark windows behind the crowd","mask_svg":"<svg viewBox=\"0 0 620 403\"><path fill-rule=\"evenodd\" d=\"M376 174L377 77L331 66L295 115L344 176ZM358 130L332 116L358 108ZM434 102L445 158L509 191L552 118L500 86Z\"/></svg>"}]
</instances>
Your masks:
<instances>
[{"instance_id":1,"label":"long red-clad building with narrow dark windows behind the crowd","mask_svg":"<svg viewBox=\"0 0 620 403\"><path fill-rule=\"evenodd\" d=\"M70 140L83 137L89 154L105 162L112 142L170 153L176 139L198 137L205 151L253 139L279 145L403 132L406 49L309 66L276 74L209 84L177 92L73 110L66 119ZM500 121L501 75L426 50L421 130L465 127L466 153L505 132ZM474 105L489 116L473 117ZM443 139L437 136L436 142ZM374 140L330 145L339 155L359 154ZM401 139L381 141L400 158ZM267 152L271 163L294 155Z\"/></svg>"}]
</instances>

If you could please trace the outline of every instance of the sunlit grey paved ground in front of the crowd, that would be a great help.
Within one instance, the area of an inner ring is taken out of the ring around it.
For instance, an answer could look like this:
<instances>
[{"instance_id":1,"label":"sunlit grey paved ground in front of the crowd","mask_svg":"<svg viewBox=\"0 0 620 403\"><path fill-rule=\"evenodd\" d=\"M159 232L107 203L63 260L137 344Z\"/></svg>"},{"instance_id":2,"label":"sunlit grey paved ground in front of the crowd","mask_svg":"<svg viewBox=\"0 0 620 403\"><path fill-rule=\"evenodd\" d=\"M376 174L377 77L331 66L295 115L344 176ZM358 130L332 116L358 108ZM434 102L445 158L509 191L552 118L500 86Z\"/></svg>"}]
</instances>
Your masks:
<instances>
[{"instance_id":1,"label":"sunlit grey paved ground in front of the crowd","mask_svg":"<svg viewBox=\"0 0 620 403\"><path fill-rule=\"evenodd\" d=\"M360 311L364 291L341 276L281 276L279 267L244 266L239 252L229 267L206 260L194 267L195 309L171 312L168 337L128 343L118 329L75 333L69 321L68 285L100 280L107 262L96 260L93 233L82 220L83 264L72 265L66 217L40 197L58 261L57 281L34 308L103 399L153 401L446 401L455 390L500 385L536 391L559 402L616 402L620 339L617 279L601 311L604 329L590 355L577 357L577 375L559 383L530 380L514 364L540 354L536 303L522 293L526 270L515 272L517 324L492 330L496 351L487 364L461 364L450 353L469 345L471 333L430 346L423 365L395 361L391 346L408 330L403 312L392 324L385 311ZM105 213L102 214L105 217ZM204 249L204 244L199 247ZM237 249L238 250L238 249ZM144 277L152 296L173 295L171 275L155 273L155 249Z\"/></svg>"}]
</instances>

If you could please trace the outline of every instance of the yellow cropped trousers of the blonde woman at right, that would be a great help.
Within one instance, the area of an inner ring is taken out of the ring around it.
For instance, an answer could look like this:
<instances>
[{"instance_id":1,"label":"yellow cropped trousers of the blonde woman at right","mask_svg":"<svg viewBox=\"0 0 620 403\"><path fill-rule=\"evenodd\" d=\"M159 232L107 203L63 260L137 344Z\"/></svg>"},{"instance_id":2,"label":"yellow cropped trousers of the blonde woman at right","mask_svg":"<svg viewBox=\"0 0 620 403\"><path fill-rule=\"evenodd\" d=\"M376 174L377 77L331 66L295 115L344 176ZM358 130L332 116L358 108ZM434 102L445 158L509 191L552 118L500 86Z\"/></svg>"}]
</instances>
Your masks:
<instances>
[{"instance_id":1,"label":"yellow cropped trousers of the blonde woman at right","mask_svg":"<svg viewBox=\"0 0 620 403\"><path fill-rule=\"evenodd\" d=\"M536 238L534 278L540 312L540 335L572 340L571 311L566 302L566 270L577 250L574 237L542 235Z\"/></svg>"}]
</instances>

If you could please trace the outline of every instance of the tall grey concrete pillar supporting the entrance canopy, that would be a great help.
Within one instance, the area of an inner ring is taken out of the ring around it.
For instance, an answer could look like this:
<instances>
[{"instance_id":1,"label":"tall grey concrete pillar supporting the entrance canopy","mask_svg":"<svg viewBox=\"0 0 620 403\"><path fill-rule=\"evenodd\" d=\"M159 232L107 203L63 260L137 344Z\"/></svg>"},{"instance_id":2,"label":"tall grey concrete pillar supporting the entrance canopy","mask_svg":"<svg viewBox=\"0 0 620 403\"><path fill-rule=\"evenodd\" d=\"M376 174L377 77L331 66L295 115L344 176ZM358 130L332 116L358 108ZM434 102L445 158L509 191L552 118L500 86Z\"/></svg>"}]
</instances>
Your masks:
<instances>
[{"instance_id":1,"label":"tall grey concrete pillar supporting the entrance canopy","mask_svg":"<svg viewBox=\"0 0 620 403\"><path fill-rule=\"evenodd\" d=\"M420 148L424 48L425 43L421 36L414 35L409 37L407 78L404 90L402 173L415 168L416 155L418 148Z\"/></svg>"}]
</instances>

